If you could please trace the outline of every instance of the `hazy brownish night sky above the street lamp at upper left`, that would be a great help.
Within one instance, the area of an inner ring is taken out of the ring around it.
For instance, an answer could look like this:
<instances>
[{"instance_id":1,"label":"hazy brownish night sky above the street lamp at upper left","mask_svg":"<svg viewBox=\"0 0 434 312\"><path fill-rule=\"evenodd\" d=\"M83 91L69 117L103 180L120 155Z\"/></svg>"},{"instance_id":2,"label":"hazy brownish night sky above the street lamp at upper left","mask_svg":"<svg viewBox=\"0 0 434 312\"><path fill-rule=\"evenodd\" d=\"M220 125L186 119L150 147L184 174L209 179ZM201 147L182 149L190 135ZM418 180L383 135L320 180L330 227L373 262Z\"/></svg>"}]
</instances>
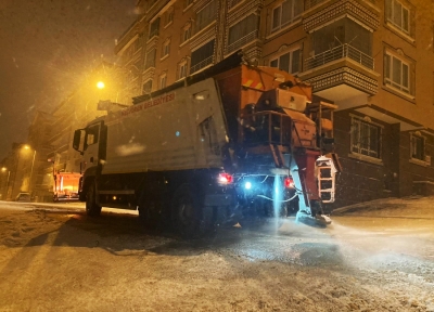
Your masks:
<instances>
[{"instance_id":1,"label":"hazy brownish night sky above the street lamp at upper left","mask_svg":"<svg viewBox=\"0 0 434 312\"><path fill-rule=\"evenodd\" d=\"M137 0L0 0L0 160L26 142L37 109L51 113L136 20Z\"/></svg>"}]
</instances>

